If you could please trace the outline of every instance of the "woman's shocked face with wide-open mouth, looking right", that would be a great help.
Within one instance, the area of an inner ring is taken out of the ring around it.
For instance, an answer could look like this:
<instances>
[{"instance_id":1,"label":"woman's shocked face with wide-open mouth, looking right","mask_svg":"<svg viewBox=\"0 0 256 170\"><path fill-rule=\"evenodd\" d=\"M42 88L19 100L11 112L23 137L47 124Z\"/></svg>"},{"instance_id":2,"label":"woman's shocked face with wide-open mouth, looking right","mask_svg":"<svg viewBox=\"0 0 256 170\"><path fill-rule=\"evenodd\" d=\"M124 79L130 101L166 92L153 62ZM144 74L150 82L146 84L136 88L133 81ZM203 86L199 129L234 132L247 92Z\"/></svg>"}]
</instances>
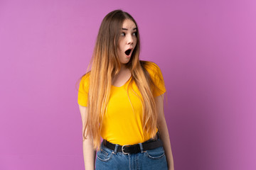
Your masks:
<instances>
[{"instance_id":1,"label":"woman's shocked face with wide-open mouth, looking right","mask_svg":"<svg viewBox=\"0 0 256 170\"><path fill-rule=\"evenodd\" d=\"M137 27L132 20L126 19L122 24L121 34L119 35L117 46L117 54L121 64L126 64L129 62L136 45Z\"/></svg>"}]
</instances>

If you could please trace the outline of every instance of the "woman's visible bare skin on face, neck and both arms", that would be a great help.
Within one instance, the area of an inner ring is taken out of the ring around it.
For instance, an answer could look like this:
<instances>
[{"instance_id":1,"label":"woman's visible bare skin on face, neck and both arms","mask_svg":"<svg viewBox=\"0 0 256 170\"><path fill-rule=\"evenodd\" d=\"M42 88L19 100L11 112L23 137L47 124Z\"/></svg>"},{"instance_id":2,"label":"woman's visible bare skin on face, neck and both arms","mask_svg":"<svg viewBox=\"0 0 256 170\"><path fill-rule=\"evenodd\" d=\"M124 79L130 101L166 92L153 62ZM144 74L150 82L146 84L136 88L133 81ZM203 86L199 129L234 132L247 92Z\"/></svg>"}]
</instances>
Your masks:
<instances>
[{"instance_id":1,"label":"woman's visible bare skin on face, neck and both arms","mask_svg":"<svg viewBox=\"0 0 256 170\"><path fill-rule=\"evenodd\" d=\"M131 72L127 67L125 67L125 64L129 62L132 52L134 50L134 47L137 45L137 37L136 37L136 25L133 21L126 19L123 22L122 25L122 32L119 37L117 52L119 57L119 62L121 63L121 69L119 71L119 74L117 74L116 77L112 80L113 86L122 86L125 84L125 82L128 81L129 77L131 77ZM132 52L127 56L124 52L127 49L132 49ZM169 140L169 132L166 125L166 119L164 117L164 94L161 96L157 96L155 98L156 102L156 110L158 112L159 120L157 122L160 138L164 143L164 151L166 154L166 160L168 163L169 170L174 170L174 159L171 152L171 143ZM85 119L87 117L87 107L80 106L80 113L82 117L82 129L85 128ZM85 169L86 170L92 170L95 169L95 155L96 151L93 149L92 145L92 139L87 137L82 142L82 148L83 148L83 155L84 155L84 162L85 162Z\"/></svg>"}]
</instances>

